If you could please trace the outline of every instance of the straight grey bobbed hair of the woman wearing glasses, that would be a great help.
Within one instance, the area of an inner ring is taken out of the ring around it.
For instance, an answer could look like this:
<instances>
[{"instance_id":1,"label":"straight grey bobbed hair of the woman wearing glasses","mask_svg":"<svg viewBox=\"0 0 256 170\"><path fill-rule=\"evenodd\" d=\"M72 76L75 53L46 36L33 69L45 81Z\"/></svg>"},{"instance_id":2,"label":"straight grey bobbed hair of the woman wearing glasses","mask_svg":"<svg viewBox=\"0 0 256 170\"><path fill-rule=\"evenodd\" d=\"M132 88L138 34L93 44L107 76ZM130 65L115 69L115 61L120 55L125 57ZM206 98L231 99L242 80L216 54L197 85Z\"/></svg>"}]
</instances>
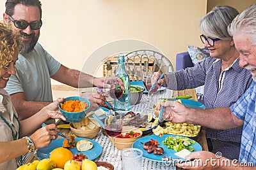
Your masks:
<instances>
[{"instance_id":1,"label":"straight grey bobbed hair of the woman wearing glasses","mask_svg":"<svg viewBox=\"0 0 256 170\"><path fill-rule=\"evenodd\" d=\"M228 34L228 25L239 12L231 6L215 6L207 15L202 17L200 28L205 36L220 39L232 39Z\"/></svg>"}]
</instances>

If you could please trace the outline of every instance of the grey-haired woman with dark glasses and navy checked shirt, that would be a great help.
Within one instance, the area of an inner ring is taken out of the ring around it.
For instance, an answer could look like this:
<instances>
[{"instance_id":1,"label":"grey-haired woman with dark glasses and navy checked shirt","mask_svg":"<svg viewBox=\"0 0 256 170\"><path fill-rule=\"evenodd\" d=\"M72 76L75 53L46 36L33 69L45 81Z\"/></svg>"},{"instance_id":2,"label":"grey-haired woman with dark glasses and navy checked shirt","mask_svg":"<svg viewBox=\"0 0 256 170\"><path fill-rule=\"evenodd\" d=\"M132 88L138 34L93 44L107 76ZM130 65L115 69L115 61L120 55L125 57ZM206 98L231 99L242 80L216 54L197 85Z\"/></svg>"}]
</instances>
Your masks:
<instances>
[{"instance_id":1,"label":"grey-haired woman with dark glasses and navy checked shirt","mask_svg":"<svg viewBox=\"0 0 256 170\"><path fill-rule=\"evenodd\" d=\"M238 15L231 6L216 6L200 20L200 39L209 49L210 57L194 67L164 74L159 83L169 89L184 90L205 85L205 108L229 107L236 103L252 82L250 71L239 67L239 53L227 28ZM154 73L155 80L161 73ZM153 82L154 83L154 82ZM214 121L214 120L212 120ZM230 130L207 129L209 150L223 157L237 159L242 128Z\"/></svg>"}]
</instances>

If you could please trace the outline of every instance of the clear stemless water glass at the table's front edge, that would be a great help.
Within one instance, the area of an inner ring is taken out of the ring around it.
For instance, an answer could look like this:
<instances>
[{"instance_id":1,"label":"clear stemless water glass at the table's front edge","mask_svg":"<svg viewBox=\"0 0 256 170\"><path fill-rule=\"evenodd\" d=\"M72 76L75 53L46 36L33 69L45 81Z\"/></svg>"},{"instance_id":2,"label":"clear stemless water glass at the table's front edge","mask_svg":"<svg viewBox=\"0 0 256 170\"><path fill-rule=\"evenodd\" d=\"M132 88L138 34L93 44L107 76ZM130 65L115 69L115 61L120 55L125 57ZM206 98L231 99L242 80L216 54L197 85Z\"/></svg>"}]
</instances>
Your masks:
<instances>
[{"instance_id":1,"label":"clear stemless water glass at the table's front edge","mask_svg":"<svg viewBox=\"0 0 256 170\"><path fill-rule=\"evenodd\" d=\"M137 148L126 148L121 151L122 170L141 170L143 152Z\"/></svg>"}]
</instances>

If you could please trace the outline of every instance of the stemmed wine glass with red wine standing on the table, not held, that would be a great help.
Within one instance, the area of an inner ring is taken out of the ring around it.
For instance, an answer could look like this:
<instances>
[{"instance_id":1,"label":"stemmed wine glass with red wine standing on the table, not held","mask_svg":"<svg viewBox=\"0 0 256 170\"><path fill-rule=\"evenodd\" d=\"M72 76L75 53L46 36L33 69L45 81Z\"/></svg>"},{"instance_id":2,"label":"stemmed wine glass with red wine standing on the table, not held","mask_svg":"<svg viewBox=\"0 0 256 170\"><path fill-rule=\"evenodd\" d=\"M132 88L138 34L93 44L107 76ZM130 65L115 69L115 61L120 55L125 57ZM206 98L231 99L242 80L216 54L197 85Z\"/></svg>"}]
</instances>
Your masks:
<instances>
[{"instance_id":1,"label":"stemmed wine glass with red wine standing on the table, not held","mask_svg":"<svg viewBox=\"0 0 256 170\"><path fill-rule=\"evenodd\" d=\"M122 133L122 115L115 113L115 111L109 111L105 115L105 132L113 139L112 153L110 154L109 159L113 160L115 158L115 160L117 160L118 157L115 154L115 137Z\"/></svg>"}]
</instances>

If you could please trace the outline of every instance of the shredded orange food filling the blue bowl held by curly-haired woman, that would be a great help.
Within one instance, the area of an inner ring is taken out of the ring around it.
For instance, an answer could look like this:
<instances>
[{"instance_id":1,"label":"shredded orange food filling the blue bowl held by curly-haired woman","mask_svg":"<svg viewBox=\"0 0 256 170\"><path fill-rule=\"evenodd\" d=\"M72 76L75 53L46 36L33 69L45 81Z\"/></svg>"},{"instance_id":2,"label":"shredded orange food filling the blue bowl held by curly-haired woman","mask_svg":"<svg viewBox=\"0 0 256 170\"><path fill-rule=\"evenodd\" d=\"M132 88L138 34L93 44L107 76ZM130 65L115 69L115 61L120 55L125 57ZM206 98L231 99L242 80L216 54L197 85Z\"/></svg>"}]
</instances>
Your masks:
<instances>
[{"instance_id":1,"label":"shredded orange food filling the blue bowl held by curly-haired woman","mask_svg":"<svg viewBox=\"0 0 256 170\"><path fill-rule=\"evenodd\" d=\"M62 110L68 111L68 112L78 112L83 111L88 108L88 103L85 103L84 101L65 101L64 103L60 103L60 107Z\"/></svg>"}]
</instances>

